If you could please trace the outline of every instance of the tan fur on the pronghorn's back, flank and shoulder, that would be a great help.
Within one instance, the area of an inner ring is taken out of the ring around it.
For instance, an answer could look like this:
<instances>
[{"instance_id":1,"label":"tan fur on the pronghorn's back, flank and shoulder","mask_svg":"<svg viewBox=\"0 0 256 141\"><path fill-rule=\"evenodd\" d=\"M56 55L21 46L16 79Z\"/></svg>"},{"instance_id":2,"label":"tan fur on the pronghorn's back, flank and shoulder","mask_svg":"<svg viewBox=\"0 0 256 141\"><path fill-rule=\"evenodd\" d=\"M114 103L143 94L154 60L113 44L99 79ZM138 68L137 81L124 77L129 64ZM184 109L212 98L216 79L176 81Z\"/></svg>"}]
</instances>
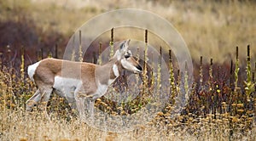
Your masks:
<instances>
[{"instance_id":1,"label":"tan fur on the pronghorn's back, flank and shoulder","mask_svg":"<svg viewBox=\"0 0 256 141\"><path fill-rule=\"evenodd\" d=\"M106 85L108 85L109 78L115 78L112 70L113 64L115 64L114 61L116 60L112 60L107 65L101 66L62 59L44 59L38 65L34 80L37 85L44 83L44 85L53 86L55 76L79 79L83 82L84 93L90 95L96 92L96 78L99 79L102 84ZM62 68L62 65L64 65L64 68ZM121 68L121 66L119 67Z\"/></svg>"}]
</instances>

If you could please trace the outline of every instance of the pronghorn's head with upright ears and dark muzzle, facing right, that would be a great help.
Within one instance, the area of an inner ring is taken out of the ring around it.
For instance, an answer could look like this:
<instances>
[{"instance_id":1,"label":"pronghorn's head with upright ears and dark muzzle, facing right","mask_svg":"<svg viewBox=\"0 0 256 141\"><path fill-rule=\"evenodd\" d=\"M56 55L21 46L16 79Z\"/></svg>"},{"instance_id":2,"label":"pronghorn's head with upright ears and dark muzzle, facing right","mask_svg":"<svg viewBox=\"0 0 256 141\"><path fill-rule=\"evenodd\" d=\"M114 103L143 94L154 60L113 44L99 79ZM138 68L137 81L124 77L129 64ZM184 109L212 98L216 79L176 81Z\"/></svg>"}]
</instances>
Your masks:
<instances>
[{"instance_id":1,"label":"pronghorn's head with upright ears and dark muzzle, facing right","mask_svg":"<svg viewBox=\"0 0 256 141\"><path fill-rule=\"evenodd\" d=\"M137 61L132 57L131 50L128 49L130 39L126 40L125 42L121 42L119 44L119 50L117 50L114 54L122 67L133 73L140 73L143 71L141 65L137 63Z\"/></svg>"}]
</instances>

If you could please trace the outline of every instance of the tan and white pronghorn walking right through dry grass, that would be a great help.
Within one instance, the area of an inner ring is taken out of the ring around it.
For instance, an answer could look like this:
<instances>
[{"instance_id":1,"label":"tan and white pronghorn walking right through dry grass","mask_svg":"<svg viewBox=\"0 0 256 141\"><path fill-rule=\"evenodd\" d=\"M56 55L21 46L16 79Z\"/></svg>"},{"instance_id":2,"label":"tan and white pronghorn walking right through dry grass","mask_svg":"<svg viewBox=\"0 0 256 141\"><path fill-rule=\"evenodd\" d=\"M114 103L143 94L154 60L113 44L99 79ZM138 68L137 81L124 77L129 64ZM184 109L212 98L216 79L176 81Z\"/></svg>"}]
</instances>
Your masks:
<instances>
[{"instance_id":1,"label":"tan and white pronghorn walking right through dry grass","mask_svg":"<svg viewBox=\"0 0 256 141\"><path fill-rule=\"evenodd\" d=\"M67 98L68 103L73 105L72 108L76 106L74 103L79 104L81 96L90 98L94 102L93 100L107 92L108 86L119 77L121 71L142 72L142 67L128 50L129 42L130 40L121 42L113 58L105 65L63 59L43 59L28 66L28 76L36 83L38 90L26 101L26 110L32 110L39 101L47 104L53 92ZM80 74L75 73L78 66Z\"/></svg>"}]
</instances>

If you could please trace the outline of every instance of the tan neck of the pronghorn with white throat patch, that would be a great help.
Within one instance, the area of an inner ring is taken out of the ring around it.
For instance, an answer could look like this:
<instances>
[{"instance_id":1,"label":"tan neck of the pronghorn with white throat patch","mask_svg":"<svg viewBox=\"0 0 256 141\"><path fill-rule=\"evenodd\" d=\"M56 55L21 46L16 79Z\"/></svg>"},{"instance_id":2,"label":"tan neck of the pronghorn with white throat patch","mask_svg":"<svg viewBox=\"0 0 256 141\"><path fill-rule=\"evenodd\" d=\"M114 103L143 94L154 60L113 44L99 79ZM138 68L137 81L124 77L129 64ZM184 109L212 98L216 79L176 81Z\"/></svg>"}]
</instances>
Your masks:
<instances>
[{"instance_id":1,"label":"tan neck of the pronghorn with white throat patch","mask_svg":"<svg viewBox=\"0 0 256 141\"><path fill-rule=\"evenodd\" d=\"M102 85L111 85L120 76L123 67L118 59L111 59L107 64L96 69L96 77Z\"/></svg>"}]
</instances>

